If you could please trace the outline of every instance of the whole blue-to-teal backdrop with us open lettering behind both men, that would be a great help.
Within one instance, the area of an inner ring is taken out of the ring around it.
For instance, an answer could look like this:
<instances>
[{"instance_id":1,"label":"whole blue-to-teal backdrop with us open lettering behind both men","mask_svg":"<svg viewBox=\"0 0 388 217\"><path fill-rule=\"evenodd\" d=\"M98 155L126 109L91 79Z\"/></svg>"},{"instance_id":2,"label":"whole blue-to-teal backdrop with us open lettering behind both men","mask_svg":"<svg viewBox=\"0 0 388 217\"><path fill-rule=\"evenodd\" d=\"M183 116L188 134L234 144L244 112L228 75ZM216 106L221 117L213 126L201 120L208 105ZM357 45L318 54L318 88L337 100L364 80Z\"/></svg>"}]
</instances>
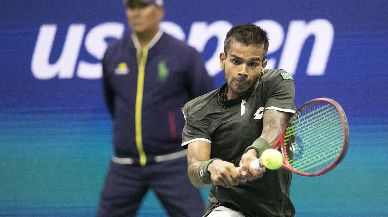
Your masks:
<instances>
[{"instance_id":1,"label":"whole blue-to-teal backdrop with us open lettering behind both men","mask_svg":"<svg viewBox=\"0 0 388 217\"><path fill-rule=\"evenodd\" d=\"M161 27L202 53L217 87L226 32L252 22L270 36L267 68L294 76L297 107L330 97L345 109L348 154L324 176L293 176L296 216L388 216L386 8L386 1L165 2ZM2 2L0 216L95 214L112 154L99 60L128 31L120 0ZM165 215L149 191L139 216Z\"/></svg>"}]
</instances>

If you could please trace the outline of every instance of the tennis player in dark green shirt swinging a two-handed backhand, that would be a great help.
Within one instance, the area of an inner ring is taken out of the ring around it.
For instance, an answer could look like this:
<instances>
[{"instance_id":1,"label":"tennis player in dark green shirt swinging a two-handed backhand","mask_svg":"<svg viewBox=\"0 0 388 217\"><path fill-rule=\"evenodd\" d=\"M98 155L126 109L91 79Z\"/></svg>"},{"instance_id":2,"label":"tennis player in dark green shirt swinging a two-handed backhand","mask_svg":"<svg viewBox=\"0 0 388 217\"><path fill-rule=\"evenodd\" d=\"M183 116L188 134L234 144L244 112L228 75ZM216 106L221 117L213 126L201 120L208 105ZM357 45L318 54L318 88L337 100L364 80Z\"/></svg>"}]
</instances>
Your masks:
<instances>
[{"instance_id":1,"label":"tennis player in dark green shirt swinging a two-handed backhand","mask_svg":"<svg viewBox=\"0 0 388 217\"><path fill-rule=\"evenodd\" d=\"M291 172L249 166L274 144L296 111L293 77L284 70L265 70L267 51L267 32L261 27L232 27L220 54L226 83L182 109L189 178L197 188L211 185L203 216L295 213L289 199Z\"/></svg>"}]
</instances>

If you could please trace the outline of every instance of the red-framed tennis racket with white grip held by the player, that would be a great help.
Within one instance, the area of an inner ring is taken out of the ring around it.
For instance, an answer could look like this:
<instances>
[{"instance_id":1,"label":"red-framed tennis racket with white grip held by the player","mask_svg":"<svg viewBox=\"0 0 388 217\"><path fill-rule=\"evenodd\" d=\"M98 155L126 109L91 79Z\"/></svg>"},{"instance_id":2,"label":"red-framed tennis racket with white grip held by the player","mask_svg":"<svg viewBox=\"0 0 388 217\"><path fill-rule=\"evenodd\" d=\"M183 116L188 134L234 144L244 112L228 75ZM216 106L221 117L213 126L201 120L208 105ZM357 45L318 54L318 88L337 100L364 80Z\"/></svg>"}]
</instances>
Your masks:
<instances>
[{"instance_id":1,"label":"red-framed tennis racket with white grip held by the player","mask_svg":"<svg viewBox=\"0 0 388 217\"><path fill-rule=\"evenodd\" d=\"M281 151L282 167L302 176L320 176L345 157L349 127L343 108L333 99L317 98L292 114L272 149ZM260 158L251 167L263 167Z\"/></svg>"}]
</instances>

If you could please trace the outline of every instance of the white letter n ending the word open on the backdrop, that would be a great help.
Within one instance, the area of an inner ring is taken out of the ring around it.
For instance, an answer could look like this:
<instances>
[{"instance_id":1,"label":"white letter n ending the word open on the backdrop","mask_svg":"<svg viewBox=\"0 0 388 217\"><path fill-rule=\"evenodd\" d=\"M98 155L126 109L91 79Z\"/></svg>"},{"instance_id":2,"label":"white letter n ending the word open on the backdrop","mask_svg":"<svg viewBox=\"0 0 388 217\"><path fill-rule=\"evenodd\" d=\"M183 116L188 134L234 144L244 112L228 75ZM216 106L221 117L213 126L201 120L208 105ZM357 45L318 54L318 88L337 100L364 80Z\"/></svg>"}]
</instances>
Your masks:
<instances>
[{"instance_id":1,"label":"white letter n ending the word open on the backdrop","mask_svg":"<svg viewBox=\"0 0 388 217\"><path fill-rule=\"evenodd\" d=\"M334 38L334 27L325 19L316 19L308 24L305 21L291 21L278 68L291 75L296 72L300 53L306 39L314 35L314 46L307 66L307 75L323 75L331 45Z\"/></svg>"}]
</instances>

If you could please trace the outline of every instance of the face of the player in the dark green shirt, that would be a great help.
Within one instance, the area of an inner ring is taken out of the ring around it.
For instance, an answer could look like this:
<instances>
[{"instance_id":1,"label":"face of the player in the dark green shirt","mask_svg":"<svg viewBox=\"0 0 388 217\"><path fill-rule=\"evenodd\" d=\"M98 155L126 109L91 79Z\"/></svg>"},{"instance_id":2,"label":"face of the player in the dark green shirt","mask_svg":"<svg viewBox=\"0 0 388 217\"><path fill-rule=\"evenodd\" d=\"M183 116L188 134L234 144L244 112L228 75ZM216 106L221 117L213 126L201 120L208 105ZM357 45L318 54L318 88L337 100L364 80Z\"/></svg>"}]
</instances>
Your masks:
<instances>
[{"instance_id":1,"label":"face of the player in the dark green shirt","mask_svg":"<svg viewBox=\"0 0 388 217\"><path fill-rule=\"evenodd\" d=\"M227 56L220 54L221 68L229 89L237 96L254 90L259 85L260 73L264 72L267 60L263 61L264 44L249 45L232 41Z\"/></svg>"}]
</instances>

